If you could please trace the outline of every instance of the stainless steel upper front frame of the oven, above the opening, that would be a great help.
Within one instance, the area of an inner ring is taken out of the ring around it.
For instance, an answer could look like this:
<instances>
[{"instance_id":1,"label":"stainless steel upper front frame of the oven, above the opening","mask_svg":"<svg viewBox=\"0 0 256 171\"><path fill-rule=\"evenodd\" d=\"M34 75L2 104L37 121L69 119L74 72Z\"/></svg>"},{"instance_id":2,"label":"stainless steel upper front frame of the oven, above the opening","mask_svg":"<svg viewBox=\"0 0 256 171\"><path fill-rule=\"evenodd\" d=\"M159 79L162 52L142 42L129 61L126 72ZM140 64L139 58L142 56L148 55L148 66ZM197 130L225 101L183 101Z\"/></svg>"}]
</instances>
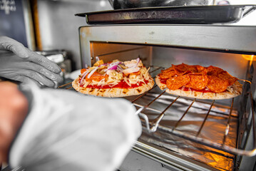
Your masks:
<instances>
[{"instance_id":1,"label":"stainless steel upper front frame of the oven, above the opening","mask_svg":"<svg viewBox=\"0 0 256 171\"><path fill-rule=\"evenodd\" d=\"M256 27L203 25L83 26L79 29L82 66L90 61L90 42L205 48L256 54Z\"/></svg>"}]
</instances>

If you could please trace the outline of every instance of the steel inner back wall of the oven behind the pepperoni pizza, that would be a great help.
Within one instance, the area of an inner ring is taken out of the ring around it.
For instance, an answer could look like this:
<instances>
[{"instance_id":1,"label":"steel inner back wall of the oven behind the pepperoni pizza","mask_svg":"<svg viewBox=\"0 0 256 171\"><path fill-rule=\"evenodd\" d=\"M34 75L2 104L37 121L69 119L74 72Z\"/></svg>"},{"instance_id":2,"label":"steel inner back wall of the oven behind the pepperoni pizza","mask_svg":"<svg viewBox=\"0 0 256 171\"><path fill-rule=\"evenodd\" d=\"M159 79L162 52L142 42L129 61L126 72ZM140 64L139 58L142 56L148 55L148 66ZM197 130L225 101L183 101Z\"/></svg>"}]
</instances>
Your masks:
<instances>
[{"instance_id":1,"label":"steel inner back wall of the oven behind the pepperoni pizza","mask_svg":"<svg viewBox=\"0 0 256 171\"><path fill-rule=\"evenodd\" d=\"M171 64L217 66L237 78L246 79L249 61L240 54L198 51L180 48L153 47L154 66L169 68Z\"/></svg>"}]
</instances>

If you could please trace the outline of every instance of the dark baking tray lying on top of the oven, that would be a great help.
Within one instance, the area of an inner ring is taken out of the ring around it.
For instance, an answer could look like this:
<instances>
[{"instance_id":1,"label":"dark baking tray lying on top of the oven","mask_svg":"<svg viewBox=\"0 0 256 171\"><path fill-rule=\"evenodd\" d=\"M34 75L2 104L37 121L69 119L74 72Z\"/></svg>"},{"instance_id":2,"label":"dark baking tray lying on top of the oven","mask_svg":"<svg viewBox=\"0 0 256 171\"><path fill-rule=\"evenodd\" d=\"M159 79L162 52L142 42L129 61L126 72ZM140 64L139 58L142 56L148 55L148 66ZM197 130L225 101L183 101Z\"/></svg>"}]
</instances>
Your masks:
<instances>
[{"instance_id":1,"label":"dark baking tray lying on top of the oven","mask_svg":"<svg viewBox=\"0 0 256 171\"><path fill-rule=\"evenodd\" d=\"M256 9L256 5L173 6L118 9L75 14L87 24L215 24L234 23Z\"/></svg>"}]
</instances>

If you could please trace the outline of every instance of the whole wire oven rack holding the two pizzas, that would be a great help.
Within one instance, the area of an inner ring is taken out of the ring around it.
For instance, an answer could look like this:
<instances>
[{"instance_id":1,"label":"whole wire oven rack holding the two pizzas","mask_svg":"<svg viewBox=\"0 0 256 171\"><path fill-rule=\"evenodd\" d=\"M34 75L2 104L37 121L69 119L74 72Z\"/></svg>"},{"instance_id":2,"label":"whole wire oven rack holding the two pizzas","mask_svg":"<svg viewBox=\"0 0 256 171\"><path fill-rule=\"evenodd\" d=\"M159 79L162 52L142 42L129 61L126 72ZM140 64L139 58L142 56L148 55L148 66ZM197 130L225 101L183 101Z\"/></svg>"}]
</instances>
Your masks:
<instances>
[{"instance_id":1,"label":"whole wire oven rack holding the two pizzas","mask_svg":"<svg viewBox=\"0 0 256 171\"><path fill-rule=\"evenodd\" d=\"M163 67L158 67L158 66L150 66L150 67L154 68L153 71L150 71L150 73L153 73L155 71L159 71L160 69L164 69ZM243 82L249 84L249 86L251 84L250 81L243 81ZM72 86L70 86L71 83L66 83L62 86L58 86L58 88L71 89L72 88ZM67 86L69 86L69 87L67 87ZM200 129L198 130L198 133L196 135L191 135L189 133L184 133L182 131L176 130L175 128L177 128L180 121L183 120L185 115L188 113L189 109L193 106L193 103L195 103L198 99L197 98L193 99L193 101L190 103L190 105L188 105L187 110L185 110L185 113L183 113L183 115L175 123L175 126L172 129L166 128L165 126L160 125L160 121L163 119L163 117L165 115L165 111L168 110L180 98L180 96L173 95L174 100L164 110L155 110L154 108L150 108L150 105L153 104L156 100L160 99L162 96L164 96L163 94L165 93L165 90L163 90L162 93L155 94L155 98L153 100L150 100L150 103L148 103L148 105L140 105L138 103L135 103L138 99L150 94L150 92L153 89L155 89L156 87L157 86L155 85L155 86L153 86L153 88L151 88L147 92L145 92L141 95L138 95L133 100L130 100L130 102L133 103L133 105L137 108L136 115L139 115L140 120L143 123L143 126L145 127L145 129L149 133L154 133L156 130L160 130L160 131L163 131L165 133L169 133L170 135L175 135L177 137L184 138L185 140L190 140L192 142L196 142L196 143L199 143L201 145L208 146L208 147L213 147L217 150L222 150L224 152L229 152L229 153L234 154L234 155L245 155L245 156L249 156L249 157L252 157L252 156L256 155L255 113L254 113L254 106L253 106L253 98L252 98L251 89L247 93L249 98L250 98L250 110L251 110L251 112L250 112L251 113L251 116L250 116L251 120L250 120L250 125L248 125L248 128L252 128L252 130L253 130L252 131L252 134L253 134L252 135L253 136L253 149L252 150L243 150L243 149L239 149L238 147L231 147L229 145L225 145L225 140L226 140L227 135L228 135L229 130L230 130L230 118L232 117L234 98L232 98L232 103L229 107L230 112L229 112L228 119L227 119L225 134L222 138L222 143L217 143L217 142L213 142L212 140L207 140L205 138L200 138L198 136L198 135L200 135L201 130L203 130L203 126L205 125L205 122L207 121L208 116L210 115L210 112L212 111L212 107L215 104L215 100L212 100L212 103L210 103L210 108L208 109L208 112L205 115L203 123L200 125ZM168 95L168 96L170 96L170 95ZM188 99L190 99L190 98L188 98ZM152 110L156 113L159 113L159 115L153 121L150 121L149 118L148 118L148 115L143 113L144 110Z\"/></svg>"}]
</instances>

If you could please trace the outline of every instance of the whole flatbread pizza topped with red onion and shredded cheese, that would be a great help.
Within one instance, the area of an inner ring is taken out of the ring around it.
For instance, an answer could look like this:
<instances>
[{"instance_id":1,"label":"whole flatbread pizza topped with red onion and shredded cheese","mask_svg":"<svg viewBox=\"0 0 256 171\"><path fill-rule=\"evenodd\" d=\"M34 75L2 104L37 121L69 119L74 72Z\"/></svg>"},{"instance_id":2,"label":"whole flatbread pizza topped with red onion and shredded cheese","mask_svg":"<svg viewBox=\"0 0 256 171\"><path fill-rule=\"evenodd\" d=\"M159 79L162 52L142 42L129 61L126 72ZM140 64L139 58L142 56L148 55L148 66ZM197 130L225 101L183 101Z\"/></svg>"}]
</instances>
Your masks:
<instances>
[{"instance_id":1,"label":"whole flatbread pizza topped with red onion and shredded cheese","mask_svg":"<svg viewBox=\"0 0 256 171\"><path fill-rule=\"evenodd\" d=\"M80 93L116 98L139 95L150 90L154 81L140 58L131 61L97 61L90 68L81 69L81 75L72 82Z\"/></svg>"}]
</instances>

